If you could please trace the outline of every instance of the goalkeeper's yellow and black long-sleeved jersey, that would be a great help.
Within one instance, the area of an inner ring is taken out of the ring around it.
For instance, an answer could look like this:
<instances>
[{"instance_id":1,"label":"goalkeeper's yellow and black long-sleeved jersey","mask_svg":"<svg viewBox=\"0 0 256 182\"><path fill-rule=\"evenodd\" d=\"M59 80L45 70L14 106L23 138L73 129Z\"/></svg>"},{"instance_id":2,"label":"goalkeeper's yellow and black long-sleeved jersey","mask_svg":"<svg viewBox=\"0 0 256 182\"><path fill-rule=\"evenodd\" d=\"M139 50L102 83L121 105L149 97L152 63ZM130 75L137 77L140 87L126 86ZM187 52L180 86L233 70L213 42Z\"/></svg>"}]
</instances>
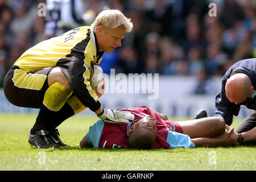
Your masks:
<instances>
[{"instance_id":1,"label":"goalkeeper's yellow and black long-sleeved jersey","mask_svg":"<svg viewBox=\"0 0 256 182\"><path fill-rule=\"evenodd\" d=\"M98 51L97 38L90 27L82 26L36 44L24 52L14 65L24 72L60 67L73 93L84 106L95 111L100 108L100 102L90 86L88 68L93 63L100 64L103 53Z\"/></svg>"}]
</instances>

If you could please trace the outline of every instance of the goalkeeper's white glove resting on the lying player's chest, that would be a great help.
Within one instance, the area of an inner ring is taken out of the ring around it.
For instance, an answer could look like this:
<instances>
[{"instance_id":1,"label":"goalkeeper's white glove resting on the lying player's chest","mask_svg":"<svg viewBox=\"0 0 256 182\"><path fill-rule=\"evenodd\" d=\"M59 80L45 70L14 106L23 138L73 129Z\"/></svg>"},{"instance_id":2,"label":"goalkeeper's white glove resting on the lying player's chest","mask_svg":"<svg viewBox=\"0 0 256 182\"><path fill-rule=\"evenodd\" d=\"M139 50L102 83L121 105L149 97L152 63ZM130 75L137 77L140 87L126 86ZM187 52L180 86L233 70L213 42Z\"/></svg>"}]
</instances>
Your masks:
<instances>
[{"instance_id":1,"label":"goalkeeper's white glove resting on the lying player's chest","mask_svg":"<svg viewBox=\"0 0 256 182\"><path fill-rule=\"evenodd\" d=\"M107 123L129 123L134 120L134 114L129 111L119 111L115 109L103 109L102 114L97 115Z\"/></svg>"}]
</instances>

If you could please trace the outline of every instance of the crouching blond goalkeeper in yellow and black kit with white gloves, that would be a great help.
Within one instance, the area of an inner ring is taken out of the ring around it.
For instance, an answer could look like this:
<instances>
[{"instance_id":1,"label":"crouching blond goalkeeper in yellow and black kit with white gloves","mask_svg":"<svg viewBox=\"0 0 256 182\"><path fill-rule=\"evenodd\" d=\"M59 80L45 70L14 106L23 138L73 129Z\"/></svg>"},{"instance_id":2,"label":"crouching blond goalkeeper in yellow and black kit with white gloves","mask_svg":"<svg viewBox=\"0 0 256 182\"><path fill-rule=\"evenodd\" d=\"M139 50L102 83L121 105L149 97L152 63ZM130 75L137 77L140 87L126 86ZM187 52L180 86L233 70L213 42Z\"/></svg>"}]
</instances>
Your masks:
<instances>
[{"instance_id":1,"label":"crouching blond goalkeeper in yellow and black kit with white gloves","mask_svg":"<svg viewBox=\"0 0 256 182\"><path fill-rule=\"evenodd\" d=\"M119 10L105 7L91 26L45 40L19 57L5 77L6 98L20 107L40 108L28 142L38 148L68 146L56 129L65 119L89 107L110 123L129 122L129 112L104 109L91 85L92 68L104 52L112 53L133 23ZM97 80L97 79L96 79Z\"/></svg>"}]
</instances>

